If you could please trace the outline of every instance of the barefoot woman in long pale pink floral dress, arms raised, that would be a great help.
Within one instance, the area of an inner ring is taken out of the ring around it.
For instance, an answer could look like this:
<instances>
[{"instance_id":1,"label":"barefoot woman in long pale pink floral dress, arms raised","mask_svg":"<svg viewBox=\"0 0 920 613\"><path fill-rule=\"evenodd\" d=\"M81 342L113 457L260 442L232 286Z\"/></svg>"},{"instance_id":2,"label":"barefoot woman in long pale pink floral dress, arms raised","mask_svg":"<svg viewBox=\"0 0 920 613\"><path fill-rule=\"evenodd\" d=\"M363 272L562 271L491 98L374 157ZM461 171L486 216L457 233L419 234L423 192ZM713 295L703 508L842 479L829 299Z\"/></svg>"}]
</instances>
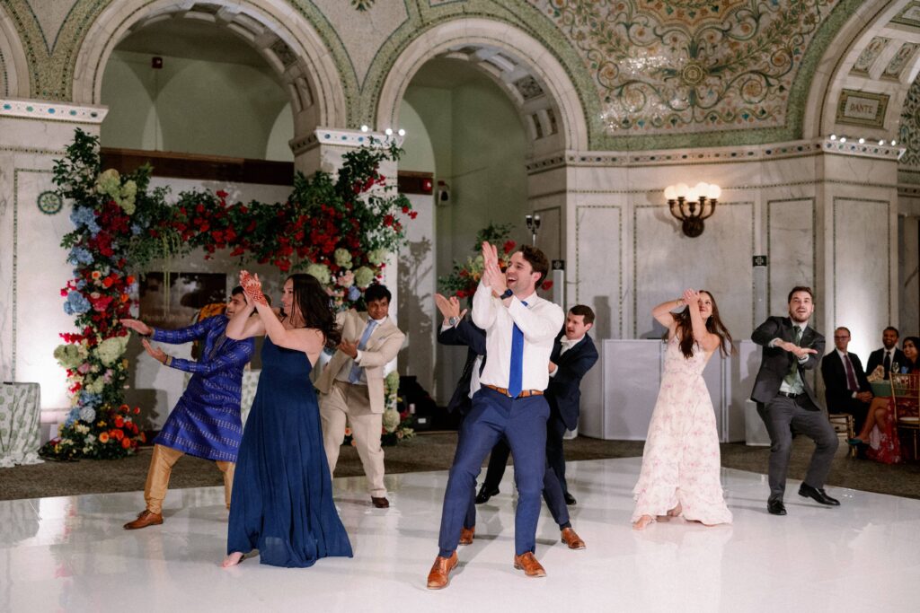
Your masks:
<instances>
[{"instance_id":1,"label":"barefoot woman in long pale pink floral dress, arms raised","mask_svg":"<svg viewBox=\"0 0 920 613\"><path fill-rule=\"evenodd\" d=\"M684 306L682 312L672 310ZM682 516L707 526L730 524L731 512L719 481L719 433L703 369L718 348L731 350L731 335L708 291L687 289L651 314L667 327L661 391L651 414L642 471L633 489L633 528L656 517Z\"/></svg>"}]
</instances>

